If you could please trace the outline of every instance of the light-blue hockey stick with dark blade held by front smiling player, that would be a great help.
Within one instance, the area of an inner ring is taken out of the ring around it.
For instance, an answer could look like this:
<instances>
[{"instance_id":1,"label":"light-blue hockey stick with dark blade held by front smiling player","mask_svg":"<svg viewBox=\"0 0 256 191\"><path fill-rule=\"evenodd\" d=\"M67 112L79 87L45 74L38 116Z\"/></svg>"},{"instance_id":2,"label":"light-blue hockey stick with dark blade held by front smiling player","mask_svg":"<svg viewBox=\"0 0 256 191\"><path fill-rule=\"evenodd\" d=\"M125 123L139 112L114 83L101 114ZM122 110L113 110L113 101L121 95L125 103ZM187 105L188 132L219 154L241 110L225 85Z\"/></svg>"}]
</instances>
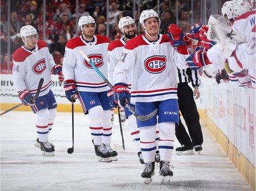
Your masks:
<instances>
[{"instance_id":1,"label":"light-blue hockey stick with dark blade held by front smiling player","mask_svg":"<svg viewBox=\"0 0 256 191\"><path fill-rule=\"evenodd\" d=\"M85 60L87 60L87 62L91 65L91 67L94 68L94 70L98 73L98 75L100 75L100 77L102 78L102 80L104 80L104 82L106 82L106 84L108 84L108 86L111 88L111 90L113 90L113 86L112 84L109 82L109 80L106 79L106 77L101 73L101 71L94 65L94 63L91 62L91 60L85 55L85 53L83 53L82 50L79 50L80 54L83 56L83 58L85 58ZM137 114L134 109L132 107L130 107L129 104L126 104L126 107L129 109L129 111L139 120L139 121L146 121L149 120L151 118L153 118L158 109L155 109L152 113L147 114L145 116L140 116L139 114Z\"/></svg>"}]
</instances>

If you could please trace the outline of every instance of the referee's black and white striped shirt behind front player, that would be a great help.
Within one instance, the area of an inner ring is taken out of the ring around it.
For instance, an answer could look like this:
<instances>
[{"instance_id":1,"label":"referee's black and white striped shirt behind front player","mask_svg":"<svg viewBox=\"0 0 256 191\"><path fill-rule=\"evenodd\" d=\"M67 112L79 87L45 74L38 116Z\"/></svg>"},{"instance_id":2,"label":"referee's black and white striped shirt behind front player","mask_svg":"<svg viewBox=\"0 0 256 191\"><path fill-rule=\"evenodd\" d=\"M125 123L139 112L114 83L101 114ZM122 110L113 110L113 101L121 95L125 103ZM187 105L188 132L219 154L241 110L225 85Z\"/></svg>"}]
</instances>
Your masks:
<instances>
[{"instance_id":1,"label":"referee's black and white striped shirt behind front player","mask_svg":"<svg viewBox=\"0 0 256 191\"><path fill-rule=\"evenodd\" d=\"M193 71L190 68L187 69L178 69L177 68L177 83L182 84L186 83L188 84L191 82L192 86L195 88L195 86L200 86L201 80L199 76L199 72Z\"/></svg>"}]
</instances>

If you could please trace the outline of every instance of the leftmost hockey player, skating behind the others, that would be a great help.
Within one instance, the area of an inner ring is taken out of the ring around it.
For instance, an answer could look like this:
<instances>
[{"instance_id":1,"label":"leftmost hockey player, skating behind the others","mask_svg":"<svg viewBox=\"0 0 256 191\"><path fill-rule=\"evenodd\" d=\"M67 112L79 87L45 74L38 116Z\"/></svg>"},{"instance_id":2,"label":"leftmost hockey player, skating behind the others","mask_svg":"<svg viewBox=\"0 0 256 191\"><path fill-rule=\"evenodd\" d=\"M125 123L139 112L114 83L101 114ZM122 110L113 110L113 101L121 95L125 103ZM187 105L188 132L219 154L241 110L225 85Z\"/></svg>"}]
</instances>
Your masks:
<instances>
[{"instance_id":1,"label":"leftmost hockey player, skating behind the others","mask_svg":"<svg viewBox=\"0 0 256 191\"><path fill-rule=\"evenodd\" d=\"M20 37L24 45L12 55L14 86L23 104L29 105L36 114L35 126L38 139L35 146L40 147L42 155L54 156L55 147L48 141L57 114L57 103L51 91L51 72L59 75L59 81L62 82L62 67L55 65L44 41L38 40L38 32L34 27L31 25L22 27ZM41 78L44 79L44 84L39 97L33 99Z\"/></svg>"}]
</instances>

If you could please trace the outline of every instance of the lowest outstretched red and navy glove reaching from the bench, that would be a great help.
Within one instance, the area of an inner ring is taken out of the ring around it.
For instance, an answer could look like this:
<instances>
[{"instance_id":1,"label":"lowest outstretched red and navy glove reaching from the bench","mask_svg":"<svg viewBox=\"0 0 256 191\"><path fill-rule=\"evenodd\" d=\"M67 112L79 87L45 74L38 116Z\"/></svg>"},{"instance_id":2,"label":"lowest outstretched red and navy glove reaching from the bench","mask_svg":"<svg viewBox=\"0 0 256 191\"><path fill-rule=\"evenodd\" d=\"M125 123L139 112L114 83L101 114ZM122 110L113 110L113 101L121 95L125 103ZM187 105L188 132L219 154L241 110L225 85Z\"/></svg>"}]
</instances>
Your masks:
<instances>
[{"instance_id":1,"label":"lowest outstretched red and navy glove reaching from the bench","mask_svg":"<svg viewBox=\"0 0 256 191\"><path fill-rule=\"evenodd\" d=\"M208 59L207 52L199 50L186 58L186 65L192 70L197 70L205 65L212 64Z\"/></svg>"}]
</instances>

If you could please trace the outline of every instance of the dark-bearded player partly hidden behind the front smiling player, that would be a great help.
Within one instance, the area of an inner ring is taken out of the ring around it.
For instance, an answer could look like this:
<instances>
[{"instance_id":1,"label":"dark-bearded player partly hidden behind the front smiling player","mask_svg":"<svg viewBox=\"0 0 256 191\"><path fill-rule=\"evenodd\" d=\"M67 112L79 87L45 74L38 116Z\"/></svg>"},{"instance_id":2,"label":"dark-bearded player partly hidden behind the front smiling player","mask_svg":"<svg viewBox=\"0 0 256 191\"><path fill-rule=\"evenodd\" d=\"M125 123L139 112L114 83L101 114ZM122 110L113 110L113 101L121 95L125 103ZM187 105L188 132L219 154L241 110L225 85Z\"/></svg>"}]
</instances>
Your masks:
<instances>
[{"instance_id":1,"label":"dark-bearded player partly hidden behind the front smiling player","mask_svg":"<svg viewBox=\"0 0 256 191\"><path fill-rule=\"evenodd\" d=\"M126 16L123 18L120 18L118 27L122 33L122 38L115 40L109 44L108 48L108 71L109 71L109 82L113 84L113 73L115 70L115 66L117 65L119 58L122 55L122 51L124 50L124 46L126 46L126 42L133 37L136 37L136 25L134 20L130 16ZM128 86L130 88L130 83L132 80L132 73L128 75ZM114 97L114 92L111 90L108 92L109 99L111 99L111 104L114 107L117 107L117 103L115 103L115 97ZM132 107L135 108L135 105L130 104ZM141 146L140 146L140 139L139 139L139 128L137 126L136 118L135 116L132 115L132 113L125 107L124 108L126 112L126 116L128 118L129 122L129 127L130 127L130 134L132 135L132 140L134 142L135 147L137 148L137 153L139 156L139 161L141 164L144 164L143 156L141 154ZM158 131L157 131L158 135ZM159 140L159 137L156 136L156 141ZM156 151L156 156L155 156L156 162L160 161L160 156L158 150Z\"/></svg>"}]
</instances>

